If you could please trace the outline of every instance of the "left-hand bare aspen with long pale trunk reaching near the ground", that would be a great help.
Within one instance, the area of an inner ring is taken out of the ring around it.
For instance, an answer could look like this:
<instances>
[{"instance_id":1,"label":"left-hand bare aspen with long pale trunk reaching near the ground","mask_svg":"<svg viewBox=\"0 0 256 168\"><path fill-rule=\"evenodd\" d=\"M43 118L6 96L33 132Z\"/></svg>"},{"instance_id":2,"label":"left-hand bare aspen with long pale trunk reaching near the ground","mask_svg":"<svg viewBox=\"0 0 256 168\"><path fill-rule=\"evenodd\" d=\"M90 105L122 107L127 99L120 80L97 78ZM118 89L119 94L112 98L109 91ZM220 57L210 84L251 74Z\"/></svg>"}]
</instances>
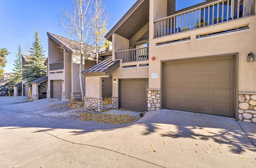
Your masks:
<instances>
[{"instance_id":1,"label":"left-hand bare aspen with long pale trunk reaching near the ground","mask_svg":"<svg viewBox=\"0 0 256 168\"><path fill-rule=\"evenodd\" d=\"M89 47L91 39L91 10L92 10L92 0L72 0L73 9L68 11L63 9L63 16L61 16L60 21L63 27L68 32L68 36L72 36L75 41L79 43L79 54L80 54L80 69L79 69L79 79L80 79L80 89L82 94L82 101L84 99L83 85L82 85L82 71L83 71L83 60L89 57L90 53L85 53L87 47ZM84 61L85 64L85 61Z\"/></svg>"}]
</instances>

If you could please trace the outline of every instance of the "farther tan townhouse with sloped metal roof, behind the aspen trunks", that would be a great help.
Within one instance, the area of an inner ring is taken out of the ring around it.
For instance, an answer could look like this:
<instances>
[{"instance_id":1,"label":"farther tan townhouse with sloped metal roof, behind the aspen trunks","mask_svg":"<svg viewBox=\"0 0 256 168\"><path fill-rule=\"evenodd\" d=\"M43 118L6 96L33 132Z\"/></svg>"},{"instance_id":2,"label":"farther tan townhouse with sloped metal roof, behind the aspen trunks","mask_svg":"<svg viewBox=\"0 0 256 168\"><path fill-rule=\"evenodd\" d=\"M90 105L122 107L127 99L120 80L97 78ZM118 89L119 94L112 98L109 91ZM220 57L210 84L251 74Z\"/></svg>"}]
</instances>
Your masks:
<instances>
[{"instance_id":1,"label":"farther tan townhouse with sloped metal roof, behind the aspen trunks","mask_svg":"<svg viewBox=\"0 0 256 168\"><path fill-rule=\"evenodd\" d=\"M52 33L48 35L48 98L61 100L81 100L79 68L80 54L79 43ZM84 44L84 53L86 58L83 60L83 70L96 64L96 48ZM100 61L108 58L109 50L100 50ZM85 85L84 76L82 76L82 85ZM112 83L112 79L111 79ZM106 89L108 90L108 89Z\"/></svg>"}]
</instances>

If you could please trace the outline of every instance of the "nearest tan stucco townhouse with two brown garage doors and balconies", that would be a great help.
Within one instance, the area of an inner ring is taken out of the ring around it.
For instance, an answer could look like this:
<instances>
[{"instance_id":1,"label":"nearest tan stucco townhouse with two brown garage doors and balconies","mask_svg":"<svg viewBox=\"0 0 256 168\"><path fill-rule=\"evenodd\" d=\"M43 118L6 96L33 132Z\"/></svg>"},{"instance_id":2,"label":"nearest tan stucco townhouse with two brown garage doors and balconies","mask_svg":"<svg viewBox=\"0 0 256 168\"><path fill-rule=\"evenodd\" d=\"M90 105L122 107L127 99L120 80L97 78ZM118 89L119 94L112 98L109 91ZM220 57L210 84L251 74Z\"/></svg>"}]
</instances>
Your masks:
<instances>
[{"instance_id":1,"label":"nearest tan stucco townhouse with two brown garage doors and balconies","mask_svg":"<svg viewBox=\"0 0 256 168\"><path fill-rule=\"evenodd\" d=\"M112 74L115 108L256 122L255 0L202 2L176 11L175 0L138 0L105 36L119 66L84 71L86 108L102 110L101 79Z\"/></svg>"}]
</instances>

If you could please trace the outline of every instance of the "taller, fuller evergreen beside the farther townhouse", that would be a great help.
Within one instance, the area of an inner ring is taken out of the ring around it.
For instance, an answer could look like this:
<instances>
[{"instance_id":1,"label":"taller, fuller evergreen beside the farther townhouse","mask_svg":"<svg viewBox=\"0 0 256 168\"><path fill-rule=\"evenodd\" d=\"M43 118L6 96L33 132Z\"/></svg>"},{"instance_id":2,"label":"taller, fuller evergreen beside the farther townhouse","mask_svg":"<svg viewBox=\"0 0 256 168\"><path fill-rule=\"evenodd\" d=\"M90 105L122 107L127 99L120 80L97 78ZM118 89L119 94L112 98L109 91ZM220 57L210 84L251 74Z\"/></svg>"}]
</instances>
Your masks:
<instances>
[{"instance_id":1,"label":"taller, fuller evergreen beside the farther townhouse","mask_svg":"<svg viewBox=\"0 0 256 168\"><path fill-rule=\"evenodd\" d=\"M30 55L26 61L26 72L24 73L24 80L27 80L27 84L31 87L31 81L46 75L45 54L42 50L40 37L38 31L35 31L34 42L29 50Z\"/></svg>"}]
</instances>

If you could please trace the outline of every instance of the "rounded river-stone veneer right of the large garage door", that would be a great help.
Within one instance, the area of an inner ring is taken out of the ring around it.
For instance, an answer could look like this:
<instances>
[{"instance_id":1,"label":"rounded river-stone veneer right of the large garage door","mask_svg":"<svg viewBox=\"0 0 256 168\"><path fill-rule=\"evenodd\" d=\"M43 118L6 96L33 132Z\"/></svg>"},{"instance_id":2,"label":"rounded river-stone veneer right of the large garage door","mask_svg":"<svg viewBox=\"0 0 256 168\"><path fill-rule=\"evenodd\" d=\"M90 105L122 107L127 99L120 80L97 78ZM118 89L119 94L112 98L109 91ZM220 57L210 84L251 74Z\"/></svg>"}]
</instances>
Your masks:
<instances>
[{"instance_id":1,"label":"rounded river-stone veneer right of the large garage door","mask_svg":"<svg viewBox=\"0 0 256 168\"><path fill-rule=\"evenodd\" d=\"M245 122L256 123L256 94L240 94L238 119Z\"/></svg>"}]
</instances>

